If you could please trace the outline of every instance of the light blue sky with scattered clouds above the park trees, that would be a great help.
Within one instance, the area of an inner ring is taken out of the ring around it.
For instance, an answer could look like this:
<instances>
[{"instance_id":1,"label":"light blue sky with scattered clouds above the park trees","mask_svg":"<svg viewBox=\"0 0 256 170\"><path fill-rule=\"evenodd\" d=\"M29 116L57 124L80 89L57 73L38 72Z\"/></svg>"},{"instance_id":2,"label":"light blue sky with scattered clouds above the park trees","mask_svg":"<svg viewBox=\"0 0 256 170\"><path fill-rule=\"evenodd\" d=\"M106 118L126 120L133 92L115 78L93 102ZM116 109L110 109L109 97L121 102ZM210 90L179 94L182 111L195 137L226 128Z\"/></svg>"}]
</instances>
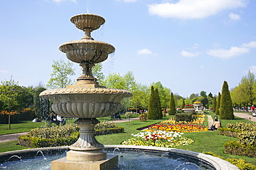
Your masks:
<instances>
[{"instance_id":1,"label":"light blue sky with scattered clouds above the park trees","mask_svg":"<svg viewBox=\"0 0 256 170\"><path fill-rule=\"evenodd\" d=\"M92 37L116 47L105 76L131 71L183 97L218 94L223 81L232 88L256 72L255 9L253 0L0 1L0 80L46 85L53 60L68 61L59 46L84 36L70 18L91 13L106 20Z\"/></svg>"}]
</instances>

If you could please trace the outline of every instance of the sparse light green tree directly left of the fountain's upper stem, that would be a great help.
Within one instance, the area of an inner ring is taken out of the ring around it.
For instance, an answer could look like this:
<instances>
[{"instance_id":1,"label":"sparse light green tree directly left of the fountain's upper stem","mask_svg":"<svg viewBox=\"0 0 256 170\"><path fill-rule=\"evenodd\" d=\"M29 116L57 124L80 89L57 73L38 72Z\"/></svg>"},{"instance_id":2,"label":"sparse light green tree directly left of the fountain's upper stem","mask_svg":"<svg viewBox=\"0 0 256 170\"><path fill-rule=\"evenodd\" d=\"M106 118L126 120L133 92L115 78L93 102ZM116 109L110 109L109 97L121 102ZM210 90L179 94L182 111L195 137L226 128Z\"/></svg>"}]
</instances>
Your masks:
<instances>
[{"instance_id":1,"label":"sparse light green tree directly left of the fountain's upper stem","mask_svg":"<svg viewBox=\"0 0 256 170\"><path fill-rule=\"evenodd\" d=\"M75 75L75 69L72 68L72 65L73 63L65 63L62 59L60 61L53 61L53 73L46 87L58 89L71 85L73 81L68 76Z\"/></svg>"}]
</instances>

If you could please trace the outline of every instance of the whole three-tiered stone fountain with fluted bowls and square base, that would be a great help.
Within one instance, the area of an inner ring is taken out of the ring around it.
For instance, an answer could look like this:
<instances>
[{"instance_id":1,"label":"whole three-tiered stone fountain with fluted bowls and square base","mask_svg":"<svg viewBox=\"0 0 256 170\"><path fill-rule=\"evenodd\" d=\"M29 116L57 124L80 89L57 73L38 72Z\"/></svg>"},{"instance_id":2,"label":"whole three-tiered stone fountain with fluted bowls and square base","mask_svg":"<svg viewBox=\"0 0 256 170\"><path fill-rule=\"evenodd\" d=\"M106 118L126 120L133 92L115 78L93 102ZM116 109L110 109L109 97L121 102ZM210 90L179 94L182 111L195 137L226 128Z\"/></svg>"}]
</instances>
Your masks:
<instances>
[{"instance_id":1,"label":"whole three-tiered stone fountain with fluted bowls and square base","mask_svg":"<svg viewBox=\"0 0 256 170\"><path fill-rule=\"evenodd\" d=\"M55 113L75 121L80 127L80 137L73 145L66 158L52 162L52 169L112 169L118 164L117 156L107 156L104 145L95 139L94 127L100 123L96 118L111 116L120 109L122 98L131 96L124 89L109 89L99 85L91 72L95 63L108 58L115 51L109 43L94 41L91 32L100 28L105 20L95 14L77 14L71 22L85 32L79 41L68 41L60 45L69 60L80 63L82 76L77 78L75 85L63 89L48 89L40 94L49 98Z\"/></svg>"}]
</instances>

